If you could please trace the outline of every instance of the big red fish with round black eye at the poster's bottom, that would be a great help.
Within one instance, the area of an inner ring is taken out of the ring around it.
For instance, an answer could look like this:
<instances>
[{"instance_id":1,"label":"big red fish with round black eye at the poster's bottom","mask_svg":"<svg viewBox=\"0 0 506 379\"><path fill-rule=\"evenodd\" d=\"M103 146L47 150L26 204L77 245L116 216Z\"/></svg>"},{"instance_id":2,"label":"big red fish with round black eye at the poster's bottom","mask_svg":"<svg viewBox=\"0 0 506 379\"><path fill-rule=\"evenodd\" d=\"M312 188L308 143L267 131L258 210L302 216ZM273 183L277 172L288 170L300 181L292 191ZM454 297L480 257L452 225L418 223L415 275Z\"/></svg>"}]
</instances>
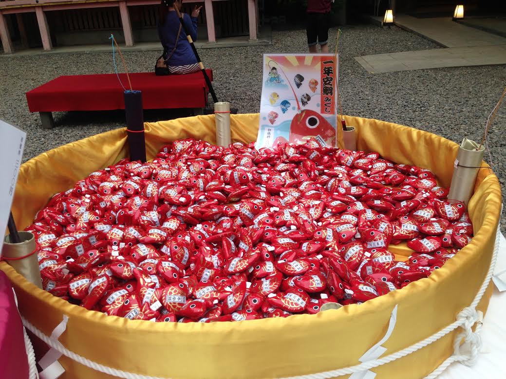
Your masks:
<instances>
[{"instance_id":1,"label":"big red fish with round black eye at the poster's bottom","mask_svg":"<svg viewBox=\"0 0 506 379\"><path fill-rule=\"evenodd\" d=\"M304 144L311 137L316 138L322 145L333 146L335 129L322 115L305 109L291 120L289 141L286 138L277 137L273 146L286 142Z\"/></svg>"}]
</instances>

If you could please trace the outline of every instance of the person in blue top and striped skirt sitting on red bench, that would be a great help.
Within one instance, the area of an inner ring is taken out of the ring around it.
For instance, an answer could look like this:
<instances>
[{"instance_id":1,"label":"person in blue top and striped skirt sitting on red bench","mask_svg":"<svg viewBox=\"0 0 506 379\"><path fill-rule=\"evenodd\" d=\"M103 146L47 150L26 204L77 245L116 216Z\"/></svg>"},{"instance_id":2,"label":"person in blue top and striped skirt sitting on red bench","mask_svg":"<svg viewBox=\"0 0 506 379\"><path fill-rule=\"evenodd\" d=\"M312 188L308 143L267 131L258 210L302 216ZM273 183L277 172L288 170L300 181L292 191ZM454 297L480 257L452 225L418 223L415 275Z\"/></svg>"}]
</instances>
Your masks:
<instances>
[{"instance_id":1,"label":"person in blue top and striped skirt sitting on red bench","mask_svg":"<svg viewBox=\"0 0 506 379\"><path fill-rule=\"evenodd\" d=\"M160 17L158 20L158 36L163 46L163 58L171 74L189 74L200 70L197 60L186 38L184 28L180 28L179 18L174 10L181 10L183 0L162 0L160 4ZM191 17L183 15L183 22L190 36L197 39L197 17L202 7L193 9ZM178 37L179 35L179 37Z\"/></svg>"}]
</instances>

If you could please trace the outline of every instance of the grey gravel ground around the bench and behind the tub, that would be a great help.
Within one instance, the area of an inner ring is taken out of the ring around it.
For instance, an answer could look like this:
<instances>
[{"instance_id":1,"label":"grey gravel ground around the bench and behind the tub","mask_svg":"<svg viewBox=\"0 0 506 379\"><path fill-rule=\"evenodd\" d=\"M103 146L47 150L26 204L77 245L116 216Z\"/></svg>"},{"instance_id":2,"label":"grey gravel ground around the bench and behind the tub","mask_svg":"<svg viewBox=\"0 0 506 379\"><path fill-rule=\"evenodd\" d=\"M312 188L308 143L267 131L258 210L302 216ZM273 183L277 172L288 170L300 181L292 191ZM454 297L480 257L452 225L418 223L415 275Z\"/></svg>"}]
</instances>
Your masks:
<instances>
[{"instance_id":1,"label":"grey gravel ground around the bench and behind the tub","mask_svg":"<svg viewBox=\"0 0 506 379\"><path fill-rule=\"evenodd\" d=\"M345 114L377 118L434 132L460 142L480 140L493 106L506 83L504 66L481 66L369 74L354 56L437 49L438 45L399 28L360 25L342 28L340 87ZM336 30L331 30L330 40ZM274 31L272 45L232 49L201 49L206 67L214 69L215 90L240 113L260 107L262 54L305 52L305 30ZM330 44L333 51L335 42ZM159 52L126 52L133 72L152 70ZM25 92L59 75L112 72L112 57L101 54L0 57L0 118L28 133L24 159L70 141L123 127L124 114L114 112L55 113L57 127L40 128L38 114L30 114ZM184 112L149 112L147 121L184 116ZM506 185L506 104L489 134L494 170L503 191ZM502 224L506 225L503 217ZM503 228L503 232L504 232Z\"/></svg>"}]
</instances>

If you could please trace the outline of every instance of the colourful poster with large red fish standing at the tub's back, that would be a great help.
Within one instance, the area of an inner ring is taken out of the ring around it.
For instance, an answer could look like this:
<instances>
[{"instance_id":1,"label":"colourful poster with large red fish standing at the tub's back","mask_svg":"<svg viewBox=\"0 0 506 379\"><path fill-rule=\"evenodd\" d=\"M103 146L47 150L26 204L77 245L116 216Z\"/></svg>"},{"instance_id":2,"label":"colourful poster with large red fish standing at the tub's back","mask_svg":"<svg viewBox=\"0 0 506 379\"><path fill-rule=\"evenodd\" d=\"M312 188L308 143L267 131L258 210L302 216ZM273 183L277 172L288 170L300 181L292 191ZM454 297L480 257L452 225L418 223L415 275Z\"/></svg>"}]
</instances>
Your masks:
<instances>
[{"instance_id":1,"label":"colourful poster with large red fish standing at the tub's back","mask_svg":"<svg viewBox=\"0 0 506 379\"><path fill-rule=\"evenodd\" d=\"M266 54L257 149L314 137L336 146L338 56Z\"/></svg>"}]
</instances>

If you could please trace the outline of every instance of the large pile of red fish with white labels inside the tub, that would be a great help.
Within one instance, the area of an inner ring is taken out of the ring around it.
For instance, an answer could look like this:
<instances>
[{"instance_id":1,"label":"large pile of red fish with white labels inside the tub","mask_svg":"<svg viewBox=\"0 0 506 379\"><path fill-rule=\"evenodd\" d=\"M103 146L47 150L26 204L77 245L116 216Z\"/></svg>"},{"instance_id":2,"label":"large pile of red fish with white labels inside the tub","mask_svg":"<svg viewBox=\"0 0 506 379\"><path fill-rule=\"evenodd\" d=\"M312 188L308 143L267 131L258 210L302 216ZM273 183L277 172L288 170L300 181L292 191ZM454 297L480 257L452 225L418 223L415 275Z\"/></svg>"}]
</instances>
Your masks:
<instances>
[{"instance_id":1,"label":"large pile of red fish with white labels inside the tub","mask_svg":"<svg viewBox=\"0 0 506 379\"><path fill-rule=\"evenodd\" d=\"M465 205L376 153L185 139L55 195L35 234L44 289L129 319L317 313L425 278L467 245ZM414 252L397 261L389 245Z\"/></svg>"}]
</instances>

